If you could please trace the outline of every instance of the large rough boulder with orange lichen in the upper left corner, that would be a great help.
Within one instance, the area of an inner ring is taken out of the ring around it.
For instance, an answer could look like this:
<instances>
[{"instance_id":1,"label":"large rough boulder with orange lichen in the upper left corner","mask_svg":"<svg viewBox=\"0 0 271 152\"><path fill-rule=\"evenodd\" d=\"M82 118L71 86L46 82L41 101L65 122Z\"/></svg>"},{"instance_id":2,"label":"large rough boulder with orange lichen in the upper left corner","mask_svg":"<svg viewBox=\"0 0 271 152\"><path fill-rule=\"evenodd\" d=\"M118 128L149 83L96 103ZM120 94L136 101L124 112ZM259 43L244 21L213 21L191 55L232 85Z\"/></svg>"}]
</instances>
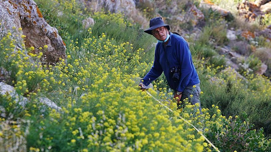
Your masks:
<instances>
[{"instance_id":1,"label":"large rough boulder with orange lichen in the upper left corner","mask_svg":"<svg viewBox=\"0 0 271 152\"><path fill-rule=\"evenodd\" d=\"M47 45L48 48L43 52L44 61L47 63L52 64L59 58L66 58L65 43L58 30L47 24L33 0L1 0L0 22L3 25L0 39L10 30L20 48L23 42L20 37L22 34L26 36L25 47L33 46L34 53L39 53L38 48ZM22 28L22 31L18 30L19 28Z\"/></svg>"}]
</instances>

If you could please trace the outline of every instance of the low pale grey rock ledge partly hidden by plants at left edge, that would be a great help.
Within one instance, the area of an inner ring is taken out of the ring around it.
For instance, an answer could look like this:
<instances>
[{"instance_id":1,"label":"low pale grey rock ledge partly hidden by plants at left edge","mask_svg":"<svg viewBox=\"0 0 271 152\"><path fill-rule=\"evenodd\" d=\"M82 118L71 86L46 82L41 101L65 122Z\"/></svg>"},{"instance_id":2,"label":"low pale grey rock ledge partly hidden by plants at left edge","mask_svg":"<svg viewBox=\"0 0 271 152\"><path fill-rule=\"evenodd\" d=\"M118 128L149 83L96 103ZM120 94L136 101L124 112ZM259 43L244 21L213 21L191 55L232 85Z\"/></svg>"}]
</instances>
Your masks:
<instances>
[{"instance_id":1,"label":"low pale grey rock ledge partly hidden by plants at left edge","mask_svg":"<svg viewBox=\"0 0 271 152\"><path fill-rule=\"evenodd\" d=\"M5 84L3 82L0 82L0 94L1 95L10 95L14 98L14 100L22 107L25 107L26 103L29 102L29 100L26 97L23 97L22 95L18 95L11 85ZM48 98L41 97L38 99L40 103L43 105L46 105L47 107L56 109L58 111L61 110L61 107L58 107L54 102L52 102ZM43 110L44 111L44 110Z\"/></svg>"}]
</instances>

